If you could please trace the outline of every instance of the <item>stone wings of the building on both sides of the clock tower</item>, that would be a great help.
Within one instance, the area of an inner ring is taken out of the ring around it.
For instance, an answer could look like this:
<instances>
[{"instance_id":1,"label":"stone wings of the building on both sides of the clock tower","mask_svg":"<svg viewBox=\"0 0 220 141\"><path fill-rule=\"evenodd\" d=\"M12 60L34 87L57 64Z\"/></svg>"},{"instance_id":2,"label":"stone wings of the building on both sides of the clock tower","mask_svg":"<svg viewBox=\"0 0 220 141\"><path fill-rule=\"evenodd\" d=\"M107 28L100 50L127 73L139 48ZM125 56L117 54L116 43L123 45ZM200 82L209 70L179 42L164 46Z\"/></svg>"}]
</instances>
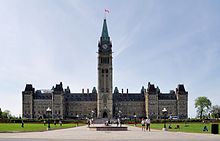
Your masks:
<instances>
[{"instance_id":1,"label":"stone wings of the building on both sides of the clock tower","mask_svg":"<svg viewBox=\"0 0 220 141\"><path fill-rule=\"evenodd\" d=\"M162 118L162 110L167 109L168 116L179 116L184 119L188 117L188 92L183 86L178 86L176 92L160 93L159 88L150 84L147 91L141 93L119 93L117 90L113 97L113 117L150 117ZM107 102L108 103L108 102ZM75 118L91 117L92 111L97 116L97 93L66 93L62 84L57 85L54 90L34 91L28 85L22 92L22 116L26 118L44 118L47 116L46 109L52 109L53 118ZM102 110L105 110L103 108Z\"/></svg>"}]
</instances>

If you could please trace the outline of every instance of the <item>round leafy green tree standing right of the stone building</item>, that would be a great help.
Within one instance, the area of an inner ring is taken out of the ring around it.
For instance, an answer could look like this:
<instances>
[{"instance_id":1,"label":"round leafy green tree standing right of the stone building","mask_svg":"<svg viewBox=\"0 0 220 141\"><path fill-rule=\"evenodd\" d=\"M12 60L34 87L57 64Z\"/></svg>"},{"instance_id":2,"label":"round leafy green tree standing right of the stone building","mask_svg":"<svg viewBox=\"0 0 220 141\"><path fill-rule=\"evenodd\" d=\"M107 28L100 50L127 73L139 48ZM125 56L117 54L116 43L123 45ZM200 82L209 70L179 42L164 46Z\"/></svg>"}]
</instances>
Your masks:
<instances>
[{"instance_id":1,"label":"round leafy green tree standing right of the stone building","mask_svg":"<svg viewBox=\"0 0 220 141\"><path fill-rule=\"evenodd\" d=\"M202 119L211 108L211 101L205 97L201 96L195 99L195 108L197 108L197 114Z\"/></svg>"}]
</instances>

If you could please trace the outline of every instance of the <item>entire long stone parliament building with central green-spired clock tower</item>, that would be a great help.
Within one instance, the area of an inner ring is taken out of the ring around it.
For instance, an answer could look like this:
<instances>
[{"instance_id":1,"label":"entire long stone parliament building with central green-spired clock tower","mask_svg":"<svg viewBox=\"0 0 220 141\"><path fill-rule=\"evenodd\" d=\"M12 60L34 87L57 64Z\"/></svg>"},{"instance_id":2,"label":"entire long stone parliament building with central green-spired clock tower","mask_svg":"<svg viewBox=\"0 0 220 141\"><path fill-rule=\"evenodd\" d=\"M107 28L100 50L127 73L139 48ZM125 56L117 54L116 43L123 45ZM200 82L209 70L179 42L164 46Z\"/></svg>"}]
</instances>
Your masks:
<instances>
[{"instance_id":1,"label":"entire long stone parliament building with central green-spired clock tower","mask_svg":"<svg viewBox=\"0 0 220 141\"><path fill-rule=\"evenodd\" d=\"M24 118L44 118L46 109L52 109L53 118L97 117L163 117L162 110L167 109L168 116L188 117L188 92L183 84L169 93L161 93L159 87L150 82L140 92L129 93L128 89L113 91L112 42L106 19L98 42L98 87L82 89L81 93L72 93L63 88L62 82L48 90L35 90L32 84L26 84L22 92L22 116Z\"/></svg>"}]
</instances>

